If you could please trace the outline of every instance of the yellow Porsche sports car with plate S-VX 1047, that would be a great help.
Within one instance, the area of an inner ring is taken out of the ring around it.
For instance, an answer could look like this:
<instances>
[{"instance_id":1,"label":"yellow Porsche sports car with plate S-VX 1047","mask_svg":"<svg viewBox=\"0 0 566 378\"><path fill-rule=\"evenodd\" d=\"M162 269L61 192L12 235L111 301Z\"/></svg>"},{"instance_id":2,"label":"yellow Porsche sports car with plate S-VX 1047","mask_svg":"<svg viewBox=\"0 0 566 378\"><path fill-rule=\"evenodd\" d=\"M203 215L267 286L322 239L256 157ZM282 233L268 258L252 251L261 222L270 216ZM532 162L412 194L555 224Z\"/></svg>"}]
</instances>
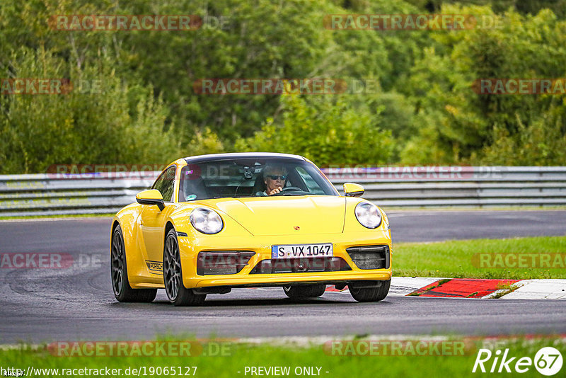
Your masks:
<instances>
[{"instance_id":1,"label":"yellow Porsche sports car with plate S-VX 1047","mask_svg":"<svg viewBox=\"0 0 566 378\"><path fill-rule=\"evenodd\" d=\"M302 156L246 153L178 159L112 220L112 287L120 302L175 306L233 287L283 287L291 299L348 286L385 298L391 230L385 212L344 184L342 197Z\"/></svg>"}]
</instances>

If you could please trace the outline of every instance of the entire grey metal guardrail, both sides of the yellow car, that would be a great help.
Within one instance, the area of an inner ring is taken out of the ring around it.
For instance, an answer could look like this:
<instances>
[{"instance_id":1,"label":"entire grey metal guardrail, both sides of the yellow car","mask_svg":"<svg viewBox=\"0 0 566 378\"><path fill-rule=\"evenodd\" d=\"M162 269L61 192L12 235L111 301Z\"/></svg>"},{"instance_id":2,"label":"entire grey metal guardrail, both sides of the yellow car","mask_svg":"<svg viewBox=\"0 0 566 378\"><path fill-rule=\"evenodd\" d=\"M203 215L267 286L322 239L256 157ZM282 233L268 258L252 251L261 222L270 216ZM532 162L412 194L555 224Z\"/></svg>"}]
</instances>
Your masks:
<instances>
[{"instance_id":1,"label":"entire grey metal guardrail, both sides of the yellow car","mask_svg":"<svg viewBox=\"0 0 566 378\"><path fill-rule=\"evenodd\" d=\"M342 183L364 185L363 197L383 207L566 205L566 167L325 168ZM0 217L108 214L135 202L158 172L0 175Z\"/></svg>"}]
</instances>

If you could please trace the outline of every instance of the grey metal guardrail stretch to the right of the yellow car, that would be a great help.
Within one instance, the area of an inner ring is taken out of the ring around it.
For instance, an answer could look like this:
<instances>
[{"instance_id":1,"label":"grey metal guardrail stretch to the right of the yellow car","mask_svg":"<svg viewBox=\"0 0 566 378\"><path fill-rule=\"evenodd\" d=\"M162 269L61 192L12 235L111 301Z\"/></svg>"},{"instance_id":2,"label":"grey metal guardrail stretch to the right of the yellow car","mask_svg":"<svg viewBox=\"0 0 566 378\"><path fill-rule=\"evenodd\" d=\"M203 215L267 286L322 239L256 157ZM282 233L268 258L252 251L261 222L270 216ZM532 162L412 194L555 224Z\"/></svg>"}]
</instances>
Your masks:
<instances>
[{"instance_id":1,"label":"grey metal guardrail stretch to the right of the yellow car","mask_svg":"<svg viewBox=\"0 0 566 378\"><path fill-rule=\"evenodd\" d=\"M333 171L340 188L362 183L364 198L383 207L504 207L566 205L566 167L383 167Z\"/></svg>"}]
</instances>

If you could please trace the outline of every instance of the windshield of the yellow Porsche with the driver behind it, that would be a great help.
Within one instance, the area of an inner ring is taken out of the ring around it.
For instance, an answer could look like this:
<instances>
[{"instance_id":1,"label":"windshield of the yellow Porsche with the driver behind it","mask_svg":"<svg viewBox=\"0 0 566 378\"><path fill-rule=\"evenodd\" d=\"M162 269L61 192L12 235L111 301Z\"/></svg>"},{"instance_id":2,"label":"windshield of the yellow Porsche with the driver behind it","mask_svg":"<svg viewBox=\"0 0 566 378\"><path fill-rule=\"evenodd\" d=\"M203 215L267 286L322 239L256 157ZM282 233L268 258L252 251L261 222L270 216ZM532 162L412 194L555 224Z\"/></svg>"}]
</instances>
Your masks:
<instances>
[{"instance_id":1,"label":"windshield of the yellow Porsche with the driver behind it","mask_svg":"<svg viewBox=\"0 0 566 378\"><path fill-rule=\"evenodd\" d=\"M179 201L266 196L267 177L282 187L275 195L339 195L308 161L284 158L236 158L204 161L183 167Z\"/></svg>"}]
</instances>

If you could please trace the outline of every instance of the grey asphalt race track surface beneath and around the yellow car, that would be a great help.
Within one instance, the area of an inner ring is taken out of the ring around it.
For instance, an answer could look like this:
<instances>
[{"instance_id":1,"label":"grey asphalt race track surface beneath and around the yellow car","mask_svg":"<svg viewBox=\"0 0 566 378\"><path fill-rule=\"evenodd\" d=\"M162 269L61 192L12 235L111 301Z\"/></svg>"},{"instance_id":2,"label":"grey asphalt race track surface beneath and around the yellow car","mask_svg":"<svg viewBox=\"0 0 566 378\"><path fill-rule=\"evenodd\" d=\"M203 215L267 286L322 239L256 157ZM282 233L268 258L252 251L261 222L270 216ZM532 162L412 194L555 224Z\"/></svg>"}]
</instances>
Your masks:
<instances>
[{"instance_id":1,"label":"grey asphalt race track surface beneath and around the yellow car","mask_svg":"<svg viewBox=\"0 0 566 378\"><path fill-rule=\"evenodd\" d=\"M390 212L393 240L566 235L566 211ZM566 333L562 301L391 295L374 304L346 292L292 304L280 288L213 294L175 308L120 304L110 286L110 219L0 222L1 253L69 253L67 269L0 269L0 343L139 340L157 333L226 337Z\"/></svg>"}]
</instances>

